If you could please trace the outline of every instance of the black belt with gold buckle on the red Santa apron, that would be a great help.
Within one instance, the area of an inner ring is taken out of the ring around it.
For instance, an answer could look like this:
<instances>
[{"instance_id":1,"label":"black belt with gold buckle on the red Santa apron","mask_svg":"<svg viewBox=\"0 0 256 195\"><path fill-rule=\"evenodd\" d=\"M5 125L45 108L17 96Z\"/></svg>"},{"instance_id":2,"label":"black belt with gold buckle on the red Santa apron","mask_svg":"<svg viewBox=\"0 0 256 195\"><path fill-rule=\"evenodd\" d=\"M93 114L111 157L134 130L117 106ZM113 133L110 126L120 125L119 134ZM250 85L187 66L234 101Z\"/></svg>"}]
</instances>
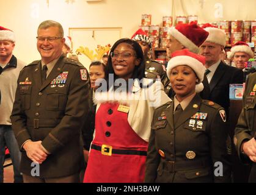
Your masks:
<instances>
[{"instance_id":1,"label":"black belt with gold buckle on the red Santa apron","mask_svg":"<svg viewBox=\"0 0 256 195\"><path fill-rule=\"evenodd\" d=\"M108 145L105 145L105 144L103 144L102 146L97 146L95 144L92 144L92 146L90 148L95 149L97 151L101 151L101 154L109 155L109 156L111 156L112 154L127 154L127 155L147 156L147 151L112 149L112 146L108 146Z\"/></svg>"}]
</instances>

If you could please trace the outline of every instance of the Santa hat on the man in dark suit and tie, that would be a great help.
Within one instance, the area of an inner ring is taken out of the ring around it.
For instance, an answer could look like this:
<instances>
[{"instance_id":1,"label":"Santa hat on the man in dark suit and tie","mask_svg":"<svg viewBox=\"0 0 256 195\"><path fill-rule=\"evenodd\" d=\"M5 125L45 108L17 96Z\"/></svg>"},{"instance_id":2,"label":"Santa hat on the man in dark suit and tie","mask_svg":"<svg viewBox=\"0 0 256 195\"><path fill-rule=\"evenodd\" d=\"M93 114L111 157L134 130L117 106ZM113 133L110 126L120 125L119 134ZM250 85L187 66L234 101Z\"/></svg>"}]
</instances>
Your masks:
<instances>
[{"instance_id":1,"label":"Santa hat on the man in dark suit and tie","mask_svg":"<svg viewBox=\"0 0 256 195\"><path fill-rule=\"evenodd\" d=\"M209 32L209 36L207 37L208 42L217 43L225 47L226 44L226 34L224 30L219 29L217 26L213 26L209 23L203 24L203 29Z\"/></svg>"}]
</instances>

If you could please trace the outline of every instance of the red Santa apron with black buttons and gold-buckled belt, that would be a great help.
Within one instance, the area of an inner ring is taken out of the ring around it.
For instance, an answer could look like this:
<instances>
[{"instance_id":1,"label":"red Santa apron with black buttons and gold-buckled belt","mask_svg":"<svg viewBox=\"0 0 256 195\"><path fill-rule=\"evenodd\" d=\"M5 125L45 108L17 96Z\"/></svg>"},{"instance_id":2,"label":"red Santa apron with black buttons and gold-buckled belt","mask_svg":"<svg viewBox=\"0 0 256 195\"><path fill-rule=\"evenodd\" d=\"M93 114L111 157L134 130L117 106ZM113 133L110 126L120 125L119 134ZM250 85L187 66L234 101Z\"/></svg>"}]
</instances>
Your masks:
<instances>
[{"instance_id":1,"label":"red Santa apron with black buttons and gold-buckled belt","mask_svg":"<svg viewBox=\"0 0 256 195\"><path fill-rule=\"evenodd\" d=\"M84 182L143 182L147 141L131 128L128 113L117 110L119 103L101 104L95 118Z\"/></svg>"}]
</instances>

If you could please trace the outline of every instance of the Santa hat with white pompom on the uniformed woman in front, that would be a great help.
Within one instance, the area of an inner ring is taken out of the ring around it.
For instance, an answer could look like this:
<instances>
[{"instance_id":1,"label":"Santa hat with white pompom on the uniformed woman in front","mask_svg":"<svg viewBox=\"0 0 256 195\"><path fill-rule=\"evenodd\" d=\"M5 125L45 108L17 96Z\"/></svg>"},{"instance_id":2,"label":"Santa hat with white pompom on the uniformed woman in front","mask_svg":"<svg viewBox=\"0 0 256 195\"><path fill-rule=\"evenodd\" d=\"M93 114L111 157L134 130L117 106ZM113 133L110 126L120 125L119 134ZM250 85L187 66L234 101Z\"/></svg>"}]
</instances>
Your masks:
<instances>
[{"instance_id":1,"label":"Santa hat with white pompom on the uniformed woman in front","mask_svg":"<svg viewBox=\"0 0 256 195\"><path fill-rule=\"evenodd\" d=\"M192 68L199 79L196 85L196 92L203 90L203 76L205 74L205 57L199 54L190 52L188 49L182 49L172 53L172 58L167 64L167 76L170 79L170 72L172 68L180 65L186 65Z\"/></svg>"}]
</instances>

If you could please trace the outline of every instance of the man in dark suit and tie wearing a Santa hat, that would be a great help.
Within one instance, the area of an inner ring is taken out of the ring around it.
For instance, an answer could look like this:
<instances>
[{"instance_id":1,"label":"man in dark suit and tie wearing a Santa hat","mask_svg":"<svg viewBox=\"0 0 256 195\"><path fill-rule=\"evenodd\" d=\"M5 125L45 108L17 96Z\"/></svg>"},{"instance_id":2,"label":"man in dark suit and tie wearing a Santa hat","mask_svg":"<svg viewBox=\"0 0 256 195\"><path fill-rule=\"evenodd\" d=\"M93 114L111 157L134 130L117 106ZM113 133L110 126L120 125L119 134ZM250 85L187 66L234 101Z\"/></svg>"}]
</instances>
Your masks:
<instances>
[{"instance_id":1,"label":"man in dark suit and tie wearing a Santa hat","mask_svg":"<svg viewBox=\"0 0 256 195\"><path fill-rule=\"evenodd\" d=\"M220 54L225 47L225 32L211 24L202 26L209 35L200 46L200 54L205 56L207 79L210 84L209 99L225 108L229 113L229 84L243 83L243 71L227 66L220 59Z\"/></svg>"}]
</instances>

